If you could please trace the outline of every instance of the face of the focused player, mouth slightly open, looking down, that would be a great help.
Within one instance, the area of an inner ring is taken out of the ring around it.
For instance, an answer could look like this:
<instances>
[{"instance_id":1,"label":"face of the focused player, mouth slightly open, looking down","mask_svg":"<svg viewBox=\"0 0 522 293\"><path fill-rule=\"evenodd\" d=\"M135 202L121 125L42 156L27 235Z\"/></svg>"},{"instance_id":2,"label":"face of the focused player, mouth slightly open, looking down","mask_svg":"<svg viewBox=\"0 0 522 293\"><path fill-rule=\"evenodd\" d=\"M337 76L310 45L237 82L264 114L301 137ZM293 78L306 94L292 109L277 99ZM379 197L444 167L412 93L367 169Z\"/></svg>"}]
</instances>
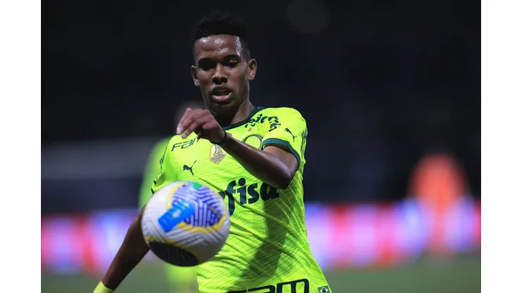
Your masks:
<instances>
[{"instance_id":1,"label":"face of the focused player, mouth slightly open, looking down","mask_svg":"<svg viewBox=\"0 0 522 293\"><path fill-rule=\"evenodd\" d=\"M214 35L195 42L192 77L207 108L219 113L245 101L256 71L255 60L247 58L236 36Z\"/></svg>"}]
</instances>

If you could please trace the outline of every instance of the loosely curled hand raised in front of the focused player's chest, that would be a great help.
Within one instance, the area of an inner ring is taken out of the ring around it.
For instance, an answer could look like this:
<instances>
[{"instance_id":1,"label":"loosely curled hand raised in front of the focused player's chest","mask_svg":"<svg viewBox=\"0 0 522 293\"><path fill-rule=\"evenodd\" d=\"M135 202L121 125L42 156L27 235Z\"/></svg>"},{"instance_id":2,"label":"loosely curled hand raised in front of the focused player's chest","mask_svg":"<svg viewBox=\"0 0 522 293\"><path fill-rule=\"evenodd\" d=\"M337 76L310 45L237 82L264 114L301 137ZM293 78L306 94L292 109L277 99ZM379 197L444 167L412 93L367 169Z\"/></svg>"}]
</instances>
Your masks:
<instances>
[{"instance_id":1,"label":"loosely curled hand raised in front of the focused player's chest","mask_svg":"<svg viewBox=\"0 0 522 293\"><path fill-rule=\"evenodd\" d=\"M181 137L186 138L192 132L198 135L198 139L204 138L212 143L225 139L225 131L208 110L187 108L178 123L176 135L183 133Z\"/></svg>"}]
</instances>

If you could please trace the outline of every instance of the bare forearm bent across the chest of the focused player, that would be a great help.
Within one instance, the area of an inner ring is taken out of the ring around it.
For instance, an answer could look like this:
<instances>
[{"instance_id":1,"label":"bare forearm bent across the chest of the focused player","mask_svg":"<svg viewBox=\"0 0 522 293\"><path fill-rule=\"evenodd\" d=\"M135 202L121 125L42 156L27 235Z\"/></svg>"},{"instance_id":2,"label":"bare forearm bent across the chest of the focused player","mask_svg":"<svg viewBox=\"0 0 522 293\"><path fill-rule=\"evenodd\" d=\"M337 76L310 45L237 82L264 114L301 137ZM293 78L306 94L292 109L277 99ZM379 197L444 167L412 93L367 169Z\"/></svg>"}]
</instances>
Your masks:
<instances>
[{"instance_id":1,"label":"bare forearm bent across the chest of the focused player","mask_svg":"<svg viewBox=\"0 0 522 293\"><path fill-rule=\"evenodd\" d=\"M227 135L220 146L224 151L236 158L248 173L254 175L262 182L278 189L284 189L289 186L293 173L276 156L239 142L231 135Z\"/></svg>"}]
</instances>

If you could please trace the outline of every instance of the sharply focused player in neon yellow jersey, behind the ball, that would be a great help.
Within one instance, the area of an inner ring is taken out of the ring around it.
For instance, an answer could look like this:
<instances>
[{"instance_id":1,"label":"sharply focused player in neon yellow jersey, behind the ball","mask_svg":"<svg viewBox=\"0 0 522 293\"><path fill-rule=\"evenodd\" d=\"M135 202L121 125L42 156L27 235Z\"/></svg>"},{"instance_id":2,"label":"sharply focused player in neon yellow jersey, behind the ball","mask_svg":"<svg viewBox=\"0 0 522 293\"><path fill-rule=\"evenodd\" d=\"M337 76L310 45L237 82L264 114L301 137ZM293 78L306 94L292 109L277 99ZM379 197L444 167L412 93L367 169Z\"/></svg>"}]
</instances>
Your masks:
<instances>
[{"instance_id":1,"label":"sharply focused player in neon yellow jersey, behind the ball","mask_svg":"<svg viewBox=\"0 0 522 293\"><path fill-rule=\"evenodd\" d=\"M250 102L257 62L241 20L225 13L202 18L192 45L191 73L205 109L187 108L152 191L195 180L220 190L228 204L229 238L197 266L200 292L330 292L305 227L304 118L293 108ZM141 218L142 211L95 292L116 289L149 251Z\"/></svg>"}]
</instances>

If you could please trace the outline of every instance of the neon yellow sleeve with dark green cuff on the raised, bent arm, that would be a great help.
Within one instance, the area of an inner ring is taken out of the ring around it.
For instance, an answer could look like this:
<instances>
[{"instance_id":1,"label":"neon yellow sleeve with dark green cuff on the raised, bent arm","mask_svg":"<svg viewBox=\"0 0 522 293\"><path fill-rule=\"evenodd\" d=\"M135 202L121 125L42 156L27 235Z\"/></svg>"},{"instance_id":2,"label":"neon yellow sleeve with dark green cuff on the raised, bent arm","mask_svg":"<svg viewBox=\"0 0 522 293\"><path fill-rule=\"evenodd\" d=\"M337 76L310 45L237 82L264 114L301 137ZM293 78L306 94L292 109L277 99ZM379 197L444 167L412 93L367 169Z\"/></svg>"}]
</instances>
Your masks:
<instances>
[{"instance_id":1,"label":"neon yellow sleeve with dark green cuff on the raised, bent arm","mask_svg":"<svg viewBox=\"0 0 522 293\"><path fill-rule=\"evenodd\" d=\"M306 137L306 121L296 109L278 108L272 112L265 123L265 136L261 149L268 145L285 146L298 164L304 161Z\"/></svg>"}]
</instances>

